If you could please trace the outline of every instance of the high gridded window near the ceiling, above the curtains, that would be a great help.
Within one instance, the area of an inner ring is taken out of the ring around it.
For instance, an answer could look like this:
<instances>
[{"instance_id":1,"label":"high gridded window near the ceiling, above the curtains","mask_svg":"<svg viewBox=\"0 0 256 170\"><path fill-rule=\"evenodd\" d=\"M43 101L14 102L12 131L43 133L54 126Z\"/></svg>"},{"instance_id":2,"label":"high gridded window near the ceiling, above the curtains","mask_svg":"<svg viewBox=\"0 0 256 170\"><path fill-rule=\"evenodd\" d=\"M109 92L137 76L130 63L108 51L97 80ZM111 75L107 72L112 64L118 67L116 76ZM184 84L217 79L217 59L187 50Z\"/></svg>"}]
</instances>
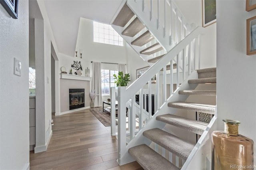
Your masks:
<instances>
[{"instance_id":1,"label":"high gridded window near the ceiling, above the curtains","mask_svg":"<svg viewBox=\"0 0 256 170\"><path fill-rule=\"evenodd\" d=\"M93 41L124 46L123 38L108 24L93 22Z\"/></svg>"}]
</instances>

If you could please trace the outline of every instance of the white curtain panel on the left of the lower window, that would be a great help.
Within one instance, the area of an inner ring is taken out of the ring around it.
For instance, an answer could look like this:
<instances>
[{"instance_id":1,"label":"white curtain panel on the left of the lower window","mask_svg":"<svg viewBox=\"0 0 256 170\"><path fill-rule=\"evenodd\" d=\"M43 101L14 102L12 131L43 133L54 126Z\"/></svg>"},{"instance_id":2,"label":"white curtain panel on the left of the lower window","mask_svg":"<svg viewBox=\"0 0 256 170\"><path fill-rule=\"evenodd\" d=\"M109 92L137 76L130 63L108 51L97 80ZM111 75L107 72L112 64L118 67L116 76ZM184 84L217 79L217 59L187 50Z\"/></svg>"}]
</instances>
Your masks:
<instances>
[{"instance_id":1,"label":"white curtain panel on the left of the lower window","mask_svg":"<svg viewBox=\"0 0 256 170\"><path fill-rule=\"evenodd\" d=\"M100 62L92 62L92 89L95 89L96 94L94 107L102 106Z\"/></svg>"}]
</instances>

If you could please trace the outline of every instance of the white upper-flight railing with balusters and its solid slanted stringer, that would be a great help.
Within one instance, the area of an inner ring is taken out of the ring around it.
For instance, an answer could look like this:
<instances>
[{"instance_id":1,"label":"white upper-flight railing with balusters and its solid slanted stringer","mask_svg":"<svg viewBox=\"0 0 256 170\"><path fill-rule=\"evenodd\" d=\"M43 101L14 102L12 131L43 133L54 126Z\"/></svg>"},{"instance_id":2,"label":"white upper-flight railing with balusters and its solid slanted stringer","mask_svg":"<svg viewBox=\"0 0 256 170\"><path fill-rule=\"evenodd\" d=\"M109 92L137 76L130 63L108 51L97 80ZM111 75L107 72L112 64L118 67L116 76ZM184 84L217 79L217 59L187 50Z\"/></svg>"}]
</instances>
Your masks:
<instances>
[{"instance_id":1,"label":"white upper-flight railing with balusters and its solid slanted stringer","mask_svg":"<svg viewBox=\"0 0 256 170\"><path fill-rule=\"evenodd\" d=\"M193 29L172 0L128 0L127 5L166 51Z\"/></svg>"}]
</instances>

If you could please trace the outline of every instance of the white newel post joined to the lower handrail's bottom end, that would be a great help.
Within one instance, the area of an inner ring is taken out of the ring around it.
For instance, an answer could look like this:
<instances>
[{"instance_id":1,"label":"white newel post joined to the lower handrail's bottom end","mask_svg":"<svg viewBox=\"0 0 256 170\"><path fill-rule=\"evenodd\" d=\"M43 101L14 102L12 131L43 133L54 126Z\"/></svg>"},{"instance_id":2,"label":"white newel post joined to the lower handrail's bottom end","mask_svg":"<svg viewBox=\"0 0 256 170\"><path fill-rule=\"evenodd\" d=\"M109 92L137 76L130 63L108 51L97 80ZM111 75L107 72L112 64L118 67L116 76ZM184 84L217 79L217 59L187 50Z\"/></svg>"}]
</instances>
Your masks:
<instances>
[{"instance_id":1,"label":"white newel post joined to the lower handrail's bottom end","mask_svg":"<svg viewBox=\"0 0 256 170\"><path fill-rule=\"evenodd\" d=\"M126 101L124 99L126 87L118 87L118 164L126 150Z\"/></svg>"}]
</instances>

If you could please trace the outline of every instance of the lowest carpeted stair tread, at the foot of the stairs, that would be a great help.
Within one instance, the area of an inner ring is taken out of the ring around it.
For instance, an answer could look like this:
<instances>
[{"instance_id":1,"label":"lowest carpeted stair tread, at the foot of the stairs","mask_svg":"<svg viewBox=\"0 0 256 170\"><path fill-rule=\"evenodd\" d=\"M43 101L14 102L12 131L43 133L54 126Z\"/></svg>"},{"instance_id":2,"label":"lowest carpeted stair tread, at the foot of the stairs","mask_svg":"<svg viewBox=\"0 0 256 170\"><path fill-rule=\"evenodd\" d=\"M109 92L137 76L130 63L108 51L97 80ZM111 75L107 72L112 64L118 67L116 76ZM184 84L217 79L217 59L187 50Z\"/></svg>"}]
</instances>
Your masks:
<instances>
[{"instance_id":1,"label":"lowest carpeted stair tread, at the foot of the stairs","mask_svg":"<svg viewBox=\"0 0 256 170\"><path fill-rule=\"evenodd\" d=\"M129 154L144 168L144 170L179 170L177 166L166 160L146 144L134 146Z\"/></svg>"}]
</instances>

